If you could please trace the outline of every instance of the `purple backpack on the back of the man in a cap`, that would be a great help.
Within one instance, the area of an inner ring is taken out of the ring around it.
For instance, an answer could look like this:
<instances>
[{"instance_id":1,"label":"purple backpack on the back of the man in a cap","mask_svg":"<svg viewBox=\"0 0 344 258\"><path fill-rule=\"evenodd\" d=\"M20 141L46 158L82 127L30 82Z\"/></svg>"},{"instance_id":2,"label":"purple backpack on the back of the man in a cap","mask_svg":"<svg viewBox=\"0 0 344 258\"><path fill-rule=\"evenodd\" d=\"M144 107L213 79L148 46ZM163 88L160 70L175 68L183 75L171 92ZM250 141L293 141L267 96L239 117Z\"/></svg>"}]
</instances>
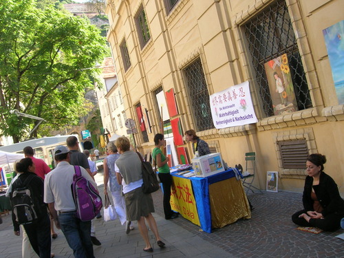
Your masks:
<instances>
[{"instance_id":1,"label":"purple backpack on the back of the man in a cap","mask_svg":"<svg viewBox=\"0 0 344 258\"><path fill-rule=\"evenodd\" d=\"M76 206L76 217L83 222L94 219L103 207L102 198L89 180L81 175L80 166L74 166L72 194Z\"/></svg>"}]
</instances>

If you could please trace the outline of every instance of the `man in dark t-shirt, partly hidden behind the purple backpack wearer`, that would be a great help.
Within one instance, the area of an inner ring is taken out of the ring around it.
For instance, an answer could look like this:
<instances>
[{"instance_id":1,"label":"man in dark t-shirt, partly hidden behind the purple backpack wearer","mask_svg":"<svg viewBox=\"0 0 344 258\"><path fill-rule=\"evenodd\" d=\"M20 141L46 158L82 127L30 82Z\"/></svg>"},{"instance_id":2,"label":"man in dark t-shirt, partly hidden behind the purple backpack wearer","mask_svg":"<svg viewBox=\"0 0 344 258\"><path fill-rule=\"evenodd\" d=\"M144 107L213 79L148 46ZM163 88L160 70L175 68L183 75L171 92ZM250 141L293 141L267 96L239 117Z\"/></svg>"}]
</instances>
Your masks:
<instances>
[{"instance_id":1,"label":"man in dark t-shirt, partly hidden behind the purple backpack wearer","mask_svg":"<svg viewBox=\"0 0 344 258\"><path fill-rule=\"evenodd\" d=\"M92 172L89 169L89 163L87 160L87 156L84 153L78 151L78 149L79 149L78 144L79 144L78 138L76 138L75 136L69 136L67 138L67 147L68 147L69 151L71 151L71 153L70 153L70 164L72 164L74 166L82 166L84 169L86 169L86 171L89 173L89 175L91 175L92 178L94 179L94 176L92 175ZM100 241L96 238L96 227L94 225L93 219L92 219L92 225L91 225L91 240L95 246L101 245Z\"/></svg>"}]
</instances>

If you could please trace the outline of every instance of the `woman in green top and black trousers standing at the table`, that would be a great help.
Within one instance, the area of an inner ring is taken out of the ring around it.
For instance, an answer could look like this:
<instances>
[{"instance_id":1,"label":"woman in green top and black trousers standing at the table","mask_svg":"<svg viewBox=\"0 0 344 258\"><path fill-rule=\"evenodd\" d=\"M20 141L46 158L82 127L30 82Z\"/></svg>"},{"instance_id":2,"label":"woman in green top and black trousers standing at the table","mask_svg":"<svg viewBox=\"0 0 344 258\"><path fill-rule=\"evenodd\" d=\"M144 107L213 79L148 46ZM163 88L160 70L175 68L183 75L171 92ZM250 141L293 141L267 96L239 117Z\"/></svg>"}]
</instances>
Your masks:
<instances>
[{"instance_id":1,"label":"woman in green top and black trousers standing at the table","mask_svg":"<svg viewBox=\"0 0 344 258\"><path fill-rule=\"evenodd\" d=\"M165 219L175 219L178 217L178 213L175 213L171 209L171 185L172 176L169 168L169 157L166 157L161 151L161 147L164 146L164 136L161 133L157 133L154 136L155 148L153 149L153 160L158 167L159 179L162 182L162 189L164 190L164 215Z\"/></svg>"}]
</instances>

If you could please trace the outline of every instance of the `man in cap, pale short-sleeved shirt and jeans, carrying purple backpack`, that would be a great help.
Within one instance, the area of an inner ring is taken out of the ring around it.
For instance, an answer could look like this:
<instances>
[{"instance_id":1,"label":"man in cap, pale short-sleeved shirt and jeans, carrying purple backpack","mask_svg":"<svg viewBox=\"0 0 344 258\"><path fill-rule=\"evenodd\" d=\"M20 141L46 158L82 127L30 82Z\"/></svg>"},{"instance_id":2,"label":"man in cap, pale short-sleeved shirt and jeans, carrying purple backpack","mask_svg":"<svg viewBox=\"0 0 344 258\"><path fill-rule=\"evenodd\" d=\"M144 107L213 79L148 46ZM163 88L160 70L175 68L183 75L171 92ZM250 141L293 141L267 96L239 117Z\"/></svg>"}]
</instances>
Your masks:
<instances>
[{"instance_id":1,"label":"man in cap, pale short-sleeved shirt and jeans, carrying purple backpack","mask_svg":"<svg viewBox=\"0 0 344 258\"><path fill-rule=\"evenodd\" d=\"M91 241L91 221L82 222L76 217L71 184L75 173L74 166L69 164L70 151L65 146L54 149L56 169L45 176L44 202L48 204L56 228L61 228L67 243L74 252L74 257L94 258ZM81 175L95 187L96 182L83 167Z\"/></svg>"}]
</instances>

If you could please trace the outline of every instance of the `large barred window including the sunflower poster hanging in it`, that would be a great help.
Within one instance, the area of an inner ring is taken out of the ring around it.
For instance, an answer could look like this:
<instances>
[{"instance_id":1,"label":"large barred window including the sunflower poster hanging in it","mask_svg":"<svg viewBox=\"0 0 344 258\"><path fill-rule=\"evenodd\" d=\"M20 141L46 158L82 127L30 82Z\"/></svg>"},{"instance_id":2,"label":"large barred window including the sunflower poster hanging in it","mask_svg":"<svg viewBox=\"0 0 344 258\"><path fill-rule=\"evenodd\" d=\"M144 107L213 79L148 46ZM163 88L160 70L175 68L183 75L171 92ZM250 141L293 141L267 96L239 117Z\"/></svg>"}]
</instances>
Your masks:
<instances>
[{"instance_id":1,"label":"large barred window including the sunflower poster hanging in it","mask_svg":"<svg viewBox=\"0 0 344 258\"><path fill-rule=\"evenodd\" d=\"M286 2L272 3L244 31L266 116L312 107Z\"/></svg>"}]
</instances>

